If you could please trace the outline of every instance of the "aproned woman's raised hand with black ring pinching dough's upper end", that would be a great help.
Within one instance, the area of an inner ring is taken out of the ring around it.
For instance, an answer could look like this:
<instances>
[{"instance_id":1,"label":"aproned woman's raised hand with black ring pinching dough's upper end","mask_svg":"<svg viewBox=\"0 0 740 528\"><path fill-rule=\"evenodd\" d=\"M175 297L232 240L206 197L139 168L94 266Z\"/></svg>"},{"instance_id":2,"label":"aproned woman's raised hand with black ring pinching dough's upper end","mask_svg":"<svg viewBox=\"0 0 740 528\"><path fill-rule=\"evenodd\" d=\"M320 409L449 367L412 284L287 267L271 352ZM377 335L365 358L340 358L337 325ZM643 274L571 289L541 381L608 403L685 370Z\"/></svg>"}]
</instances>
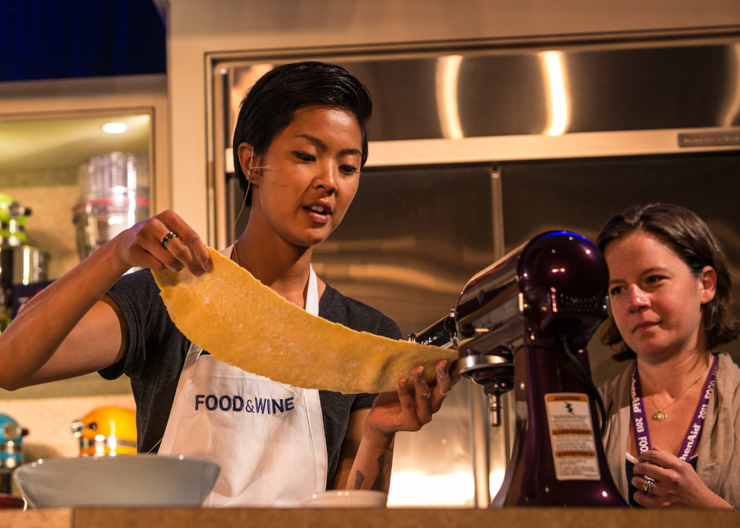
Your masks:
<instances>
[{"instance_id":1,"label":"aproned woman's raised hand with black ring pinching dough's upper end","mask_svg":"<svg viewBox=\"0 0 740 528\"><path fill-rule=\"evenodd\" d=\"M161 241L172 231L175 237L166 248ZM213 268L211 257L198 233L172 211L164 211L135 224L112 239L121 268L147 267L154 271L165 268L178 272L183 268L195 276Z\"/></svg>"}]
</instances>

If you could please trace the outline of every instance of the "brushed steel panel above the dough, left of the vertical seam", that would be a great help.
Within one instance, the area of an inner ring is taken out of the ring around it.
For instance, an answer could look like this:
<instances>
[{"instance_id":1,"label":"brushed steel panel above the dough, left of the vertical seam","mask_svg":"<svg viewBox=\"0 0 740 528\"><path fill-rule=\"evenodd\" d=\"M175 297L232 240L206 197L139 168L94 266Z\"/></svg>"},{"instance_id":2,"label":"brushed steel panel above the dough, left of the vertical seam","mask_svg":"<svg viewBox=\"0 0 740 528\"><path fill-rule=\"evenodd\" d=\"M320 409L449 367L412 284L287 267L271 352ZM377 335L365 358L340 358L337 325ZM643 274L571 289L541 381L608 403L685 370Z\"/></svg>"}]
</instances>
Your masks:
<instances>
[{"instance_id":1,"label":"brushed steel panel above the dough, left of the vertical seam","mask_svg":"<svg viewBox=\"0 0 740 528\"><path fill-rule=\"evenodd\" d=\"M367 171L342 224L314 248L314 269L404 335L418 332L494 261L491 192L490 165Z\"/></svg>"}]
</instances>

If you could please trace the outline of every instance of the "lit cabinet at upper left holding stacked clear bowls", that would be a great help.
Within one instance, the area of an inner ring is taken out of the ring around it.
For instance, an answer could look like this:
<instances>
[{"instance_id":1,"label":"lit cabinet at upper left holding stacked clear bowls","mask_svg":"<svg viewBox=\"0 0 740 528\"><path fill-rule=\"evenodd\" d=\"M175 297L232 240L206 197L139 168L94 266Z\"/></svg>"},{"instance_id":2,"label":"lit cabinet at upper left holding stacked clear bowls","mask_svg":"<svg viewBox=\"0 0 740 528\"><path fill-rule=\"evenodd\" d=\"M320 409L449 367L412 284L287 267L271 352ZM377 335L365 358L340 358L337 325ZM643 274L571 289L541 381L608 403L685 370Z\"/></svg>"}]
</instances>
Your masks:
<instances>
[{"instance_id":1,"label":"lit cabinet at upper left holding stacked clear bowls","mask_svg":"<svg viewBox=\"0 0 740 528\"><path fill-rule=\"evenodd\" d=\"M33 295L169 207L164 76L0 83L0 330ZM3 399L130 393L97 374Z\"/></svg>"}]
</instances>

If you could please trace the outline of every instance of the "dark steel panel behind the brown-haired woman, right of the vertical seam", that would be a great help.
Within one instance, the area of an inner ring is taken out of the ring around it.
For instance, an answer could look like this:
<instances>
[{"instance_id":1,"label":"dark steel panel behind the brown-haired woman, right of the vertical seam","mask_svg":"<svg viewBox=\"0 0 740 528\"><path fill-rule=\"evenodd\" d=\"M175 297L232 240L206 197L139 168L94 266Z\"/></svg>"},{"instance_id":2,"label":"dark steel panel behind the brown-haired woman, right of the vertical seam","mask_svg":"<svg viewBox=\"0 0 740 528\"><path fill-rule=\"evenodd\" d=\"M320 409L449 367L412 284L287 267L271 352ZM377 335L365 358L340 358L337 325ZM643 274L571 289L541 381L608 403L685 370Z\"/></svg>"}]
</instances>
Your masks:
<instances>
[{"instance_id":1,"label":"dark steel panel behind the brown-haired woman, right of the vertical seam","mask_svg":"<svg viewBox=\"0 0 740 528\"><path fill-rule=\"evenodd\" d=\"M740 298L740 153L582 159L501 164L506 249L545 230L567 229L592 241L611 215L655 202L687 207L727 251L733 298ZM734 304L736 315L740 306ZM594 383L621 372L597 331L589 344ZM721 347L740 363L740 342Z\"/></svg>"}]
</instances>

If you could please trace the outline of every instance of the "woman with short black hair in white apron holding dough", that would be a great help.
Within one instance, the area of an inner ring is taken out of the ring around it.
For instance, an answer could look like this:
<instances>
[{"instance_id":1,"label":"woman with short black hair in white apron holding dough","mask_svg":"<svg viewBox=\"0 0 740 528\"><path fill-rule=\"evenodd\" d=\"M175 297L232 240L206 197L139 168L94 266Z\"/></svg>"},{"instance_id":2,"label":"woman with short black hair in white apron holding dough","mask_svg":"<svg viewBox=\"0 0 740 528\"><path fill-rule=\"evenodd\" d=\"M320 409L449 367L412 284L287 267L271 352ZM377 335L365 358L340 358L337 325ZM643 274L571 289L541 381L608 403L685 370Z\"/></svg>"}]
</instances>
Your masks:
<instances>
[{"instance_id":1,"label":"woman with short black hair in white apron holding dough","mask_svg":"<svg viewBox=\"0 0 740 528\"><path fill-rule=\"evenodd\" d=\"M223 253L309 313L398 339L391 319L337 292L311 267L312 248L339 225L357 192L370 113L366 87L343 67L285 64L260 78L241 104L234 136L249 222ZM295 506L347 485L387 492L394 433L430 421L459 379L440 361L433 387L417 368L414 387L400 380L397 392L343 395L243 372L190 343L152 274L124 275L132 267L202 275L212 264L198 234L171 211L124 231L33 298L0 335L0 386L95 371L128 375L140 452L221 466L205 504ZM221 412L207 403L216 395L245 403ZM269 415L269 407L250 410L246 401L255 395L290 403Z\"/></svg>"}]
</instances>

